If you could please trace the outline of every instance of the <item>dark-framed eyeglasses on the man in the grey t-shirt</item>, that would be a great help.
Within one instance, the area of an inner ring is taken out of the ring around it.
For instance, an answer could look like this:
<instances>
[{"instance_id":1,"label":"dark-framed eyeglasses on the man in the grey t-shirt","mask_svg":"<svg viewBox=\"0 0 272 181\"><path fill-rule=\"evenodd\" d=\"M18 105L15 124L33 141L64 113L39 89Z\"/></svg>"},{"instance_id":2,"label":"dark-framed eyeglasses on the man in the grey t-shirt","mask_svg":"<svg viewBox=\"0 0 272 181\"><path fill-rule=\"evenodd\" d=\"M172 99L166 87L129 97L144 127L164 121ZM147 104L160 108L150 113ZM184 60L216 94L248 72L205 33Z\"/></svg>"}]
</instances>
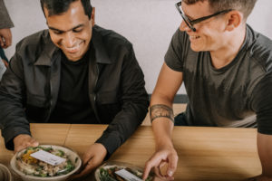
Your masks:
<instances>
[{"instance_id":1,"label":"dark-framed eyeglasses on the man in the grey t-shirt","mask_svg":"<svg viewBox=\"0 0 272 181\"><path fill-rule=\"evenodd\" d=\"M196 32L196 28L194 27L194 24L199 24L200 22L204 21L204 20L207 20L213 16L216 16L216 15L219 15L219 14L226 14L230 11L232 11L232 9L228 9L228 10L223 10L223 11L219 11L218 13L215 13L215 14L211 14L211 15L207 15L207 16L204 16L204 17L200 17L198 19L195 19L195 20L189 20L189 18L183 13L182 9L181 9L181 2L180 1L179 3L176 4L176 8L178 9L182 19L184 20L185 24L188 25L189 29L191 29L193 32Z\"/></svg>"}]
</instances>

